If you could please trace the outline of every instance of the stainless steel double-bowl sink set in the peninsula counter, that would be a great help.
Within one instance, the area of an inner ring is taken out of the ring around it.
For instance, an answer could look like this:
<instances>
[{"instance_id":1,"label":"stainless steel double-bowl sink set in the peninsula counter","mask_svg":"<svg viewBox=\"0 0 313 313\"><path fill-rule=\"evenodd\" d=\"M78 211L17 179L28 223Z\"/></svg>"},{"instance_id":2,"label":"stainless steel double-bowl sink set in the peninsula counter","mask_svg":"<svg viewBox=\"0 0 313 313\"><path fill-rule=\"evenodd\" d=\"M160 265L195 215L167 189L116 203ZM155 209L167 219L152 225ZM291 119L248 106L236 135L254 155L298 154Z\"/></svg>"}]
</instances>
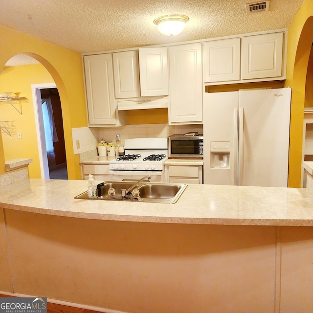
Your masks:
<instances>
[{"instance_id":1,"label":"stainless steel double-bowl sink set in the peninsula counter","mask_svg":"<svg viewBox=\"0 0 313 313\"><path fill-rule=\"evenodd\" d=\"M134 182L130 181L104 181L97 186L97 198L89 199L88 191L85 191L74 199L175 203L186 189L187 184L141 182L134 187L139 190L139 196L134 197L131 193L132 190L122 196L122 189L128 190L132 187L134 187Z\"/></svg>"}]
</instances>

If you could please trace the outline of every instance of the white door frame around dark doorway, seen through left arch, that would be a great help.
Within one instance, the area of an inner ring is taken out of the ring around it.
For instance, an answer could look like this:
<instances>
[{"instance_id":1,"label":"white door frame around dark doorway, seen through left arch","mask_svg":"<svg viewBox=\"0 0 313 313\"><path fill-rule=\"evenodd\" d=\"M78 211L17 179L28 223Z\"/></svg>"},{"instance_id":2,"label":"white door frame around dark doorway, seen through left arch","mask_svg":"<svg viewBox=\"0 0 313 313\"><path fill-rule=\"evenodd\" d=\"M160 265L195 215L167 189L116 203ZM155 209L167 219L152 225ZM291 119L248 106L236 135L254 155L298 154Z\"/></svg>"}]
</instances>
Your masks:
<instances>
[{"instance_id":1,"label":"white door frame around dark doorway, seen through left arch","mask_svg":"<svg viewBox=\"0 0 313 313\"><path fill-rule=\"evenodd\" d=\"M43 110L42 110L41 92L40 92L40 89L48 89L48 88L57 88L57 86L55 85L55 83L31 85L34 114L35 114L36 134L37 134L37 142L38 142L40 172L41 172L42 179L50 179L48 156L47 156L47 150L45 148L45 129L44 129L44 119L43 119Z\"/></svg>"}]
</instances>

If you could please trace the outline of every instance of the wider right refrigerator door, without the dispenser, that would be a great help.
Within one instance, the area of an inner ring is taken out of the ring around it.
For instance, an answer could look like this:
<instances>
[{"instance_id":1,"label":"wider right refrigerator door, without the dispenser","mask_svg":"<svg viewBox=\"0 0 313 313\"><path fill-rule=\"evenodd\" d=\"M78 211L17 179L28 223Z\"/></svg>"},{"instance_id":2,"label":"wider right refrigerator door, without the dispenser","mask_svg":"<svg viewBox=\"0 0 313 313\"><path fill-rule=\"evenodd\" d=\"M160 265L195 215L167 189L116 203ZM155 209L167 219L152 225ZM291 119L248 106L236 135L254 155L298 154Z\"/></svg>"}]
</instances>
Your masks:
<instances>
[{"instance_id":1,"label":"wider right refrigerator door, without the dispenser","mask_svg":"<svg viewBox=\"0 0 313 313\"><path fill-rule=\"evenodd\" d=\"M291 89L239 91L239 104L239 185L287 187Z\"/></svg>"}]
</instances>

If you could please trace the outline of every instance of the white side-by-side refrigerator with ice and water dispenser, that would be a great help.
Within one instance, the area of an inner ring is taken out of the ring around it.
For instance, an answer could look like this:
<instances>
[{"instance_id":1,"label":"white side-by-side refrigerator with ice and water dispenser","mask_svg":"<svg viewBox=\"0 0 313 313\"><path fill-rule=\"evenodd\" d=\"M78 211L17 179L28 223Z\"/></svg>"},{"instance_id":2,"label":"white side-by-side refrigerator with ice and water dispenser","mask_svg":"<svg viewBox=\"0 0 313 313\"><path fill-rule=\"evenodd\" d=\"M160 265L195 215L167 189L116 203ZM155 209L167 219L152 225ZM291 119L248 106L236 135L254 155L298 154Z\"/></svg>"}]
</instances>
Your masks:
<instances>
[{"instance_id":1,"label":"white side-by-side refrigerator with ice and water dispenser","mask_svg":"<svg viewBox=\"0 0 313 313\"><path fill-rule=\"evenodd\" d=\"M203 94L205 184L288 186L291 88Z\"/></svg>"}]
</instances>

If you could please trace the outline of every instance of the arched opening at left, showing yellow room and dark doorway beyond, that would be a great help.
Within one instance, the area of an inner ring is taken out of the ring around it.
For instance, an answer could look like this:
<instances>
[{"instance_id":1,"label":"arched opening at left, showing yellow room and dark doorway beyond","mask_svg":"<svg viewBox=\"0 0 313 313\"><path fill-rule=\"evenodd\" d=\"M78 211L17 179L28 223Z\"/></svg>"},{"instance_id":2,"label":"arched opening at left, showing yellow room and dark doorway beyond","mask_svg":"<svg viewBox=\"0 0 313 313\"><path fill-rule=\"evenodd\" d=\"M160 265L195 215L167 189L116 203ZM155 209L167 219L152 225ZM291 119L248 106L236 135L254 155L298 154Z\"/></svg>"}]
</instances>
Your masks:
<instances>
[{"instance_id":1,"label":"arched opening at left, showing yellow room and dark doorway beyond","mask_svg":"<svg viewBox=\"0 0 313 313\"><path fill-rule=\"evenodd\" d=\"M22 91L21 95L27 98L26 103L23 104L24 114L22 118L15 116L14 112L7 109L10 111L8 114L11 114L12 116L12 118L10 117L9 119L16 120L17 131L22 133L22 140L17 140L14 135L11 142L9 142L7 138L4 138L3 149L6 152L6 159L16 157L33 158L33 162L30 165L32 168L29 166L29 175L32 178L67 179L61 100L57 86L49 71L43 64L40 64L32 57L17 55L17 57L13 57L7 62L1 73L1 78L2 83L4 80L11 82L7 84L8 87L4 87L5 85L3 85L3 88ZM38 81L50 83L39 84L41 86L38 87L38 92L32 93L32 83ZM51 94L48 94L47 92L51 92ZM32 99L35 103L33 111L31 110L33 103ZM54 124L57 126L56 140L53 140L52 142L52 149L46 148L44 127L38 126L41 124L43 125L42 99L52 100L50 102L52 102L54 111L52 113L54 115L53 121L55 121ZM5 108L1 109L3 111ZM41 134L41 132L43 134ZM44 139L42 140L42 138ZM9 150L16 150L15 154L8 152ZM22 151L22 153L20 151ZM49 157L47 152L49 153ZM57 153L56 156L55 153ZM60 167L62 167L61 171Z\"/></svg>"}]
</instances>

